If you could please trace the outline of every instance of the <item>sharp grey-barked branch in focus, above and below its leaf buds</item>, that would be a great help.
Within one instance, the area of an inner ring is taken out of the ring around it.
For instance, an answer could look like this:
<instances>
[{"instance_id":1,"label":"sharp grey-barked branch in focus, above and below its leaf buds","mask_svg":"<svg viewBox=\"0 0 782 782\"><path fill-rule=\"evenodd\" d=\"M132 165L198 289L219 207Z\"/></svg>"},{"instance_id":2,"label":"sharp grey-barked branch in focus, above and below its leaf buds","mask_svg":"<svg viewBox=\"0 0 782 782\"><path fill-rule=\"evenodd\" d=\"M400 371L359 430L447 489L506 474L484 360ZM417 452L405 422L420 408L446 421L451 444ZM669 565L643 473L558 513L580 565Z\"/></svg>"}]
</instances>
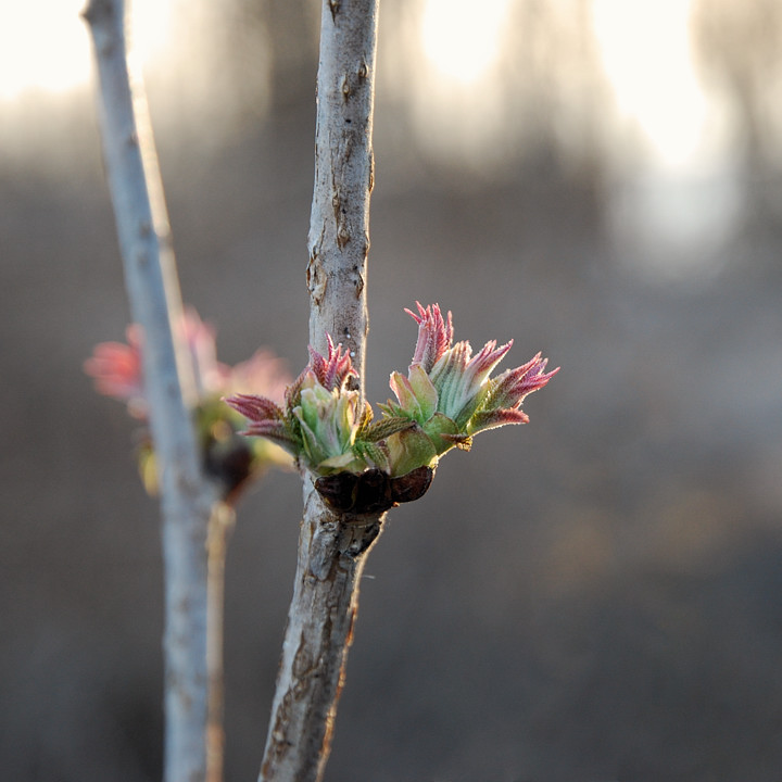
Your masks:
<instances>
[{"instance_id":1,"label":"sharp grey-barked branch in focus, above and below its leaf buds","mask_svg":"<svg viewBox=\"0 0 782 782\"><path fill-rule=\"evenodd\" d=\"M323 0L307 288L310 341L341 342L363 394L366 264L379 0ZM383 515L327 508L304 475L293 598L261 782L316 782L328 759L358 607L358 583Z\"/></svg>"}]
</instances>

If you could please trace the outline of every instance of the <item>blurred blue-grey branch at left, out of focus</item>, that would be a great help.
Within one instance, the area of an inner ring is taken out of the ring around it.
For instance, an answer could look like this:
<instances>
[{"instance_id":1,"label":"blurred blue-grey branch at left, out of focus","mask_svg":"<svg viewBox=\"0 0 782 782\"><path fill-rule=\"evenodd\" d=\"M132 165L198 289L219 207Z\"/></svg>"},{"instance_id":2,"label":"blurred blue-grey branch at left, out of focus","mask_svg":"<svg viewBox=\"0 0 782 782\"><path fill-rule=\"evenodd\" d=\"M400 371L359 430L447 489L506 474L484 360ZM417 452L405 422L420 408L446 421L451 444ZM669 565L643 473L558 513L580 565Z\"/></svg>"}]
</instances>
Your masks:
<instances>
[{"instance_id":1,"label":"blurred blue-grey branch at left, out of focus","mask_svg":"<svg viewBox=\"0 0 782 782\"><path fill-rule=\"evenodd\" d=\"M206 532L219 504L200 467L192 369L172 323L181 301L168 218L139 75L128 65L123 0L84 12L100 80L103 154L133 320L143 329L144 388L160 471L165 563L165 779L206 772Z\"/></svg>"}]
</instances>

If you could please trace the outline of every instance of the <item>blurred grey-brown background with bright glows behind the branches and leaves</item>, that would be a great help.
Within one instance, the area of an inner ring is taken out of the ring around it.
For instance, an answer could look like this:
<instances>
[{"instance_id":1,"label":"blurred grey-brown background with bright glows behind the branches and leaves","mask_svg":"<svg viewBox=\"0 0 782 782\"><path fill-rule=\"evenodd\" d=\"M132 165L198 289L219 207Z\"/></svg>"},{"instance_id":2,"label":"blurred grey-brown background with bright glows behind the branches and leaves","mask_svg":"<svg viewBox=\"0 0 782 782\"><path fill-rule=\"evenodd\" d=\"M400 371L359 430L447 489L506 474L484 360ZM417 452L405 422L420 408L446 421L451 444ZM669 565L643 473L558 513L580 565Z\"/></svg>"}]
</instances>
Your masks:
<instances>
[{"instance_id":1,"label":"blurred grey-brown background with bright glows behind the branches and leaves","mask_svg":"<svg viewBox=\"0 0 782 782\"><path fill-rule=\"evenodd\" d=\"M76 2L0 11L0 766L160 779L157 504L83 361L128 321ZM318 3L137 0L186 302L306 362ZM782 4L380 16L368 396L416 300L560 374L449 455L362 586L327 780L775 782ZM255 779L300 483L228 557L227 782Z\"/></svg>"}]
</instances>

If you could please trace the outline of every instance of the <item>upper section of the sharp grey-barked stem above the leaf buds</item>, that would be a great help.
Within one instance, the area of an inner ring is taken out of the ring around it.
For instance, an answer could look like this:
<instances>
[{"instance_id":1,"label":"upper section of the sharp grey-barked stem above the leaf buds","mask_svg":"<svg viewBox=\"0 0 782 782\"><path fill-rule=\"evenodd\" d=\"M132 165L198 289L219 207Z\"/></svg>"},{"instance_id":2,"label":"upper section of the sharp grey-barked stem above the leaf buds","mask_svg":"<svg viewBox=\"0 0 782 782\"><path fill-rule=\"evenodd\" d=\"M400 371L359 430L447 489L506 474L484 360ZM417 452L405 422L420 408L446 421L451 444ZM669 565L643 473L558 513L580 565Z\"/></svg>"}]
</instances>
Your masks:
<instances>
[{"instance_id":1,"label":"upper section of the sharp grey-barked stem above the leaf buds","mask_svg":"<svg viewBox=\"0 0 782 782\"><path fill-rule=\"evenodd\" d=\"M323 0L307 266L310 342L321 353L326 333L342 342L362 388L378 3Z\"/></svg>"}]
</instances>

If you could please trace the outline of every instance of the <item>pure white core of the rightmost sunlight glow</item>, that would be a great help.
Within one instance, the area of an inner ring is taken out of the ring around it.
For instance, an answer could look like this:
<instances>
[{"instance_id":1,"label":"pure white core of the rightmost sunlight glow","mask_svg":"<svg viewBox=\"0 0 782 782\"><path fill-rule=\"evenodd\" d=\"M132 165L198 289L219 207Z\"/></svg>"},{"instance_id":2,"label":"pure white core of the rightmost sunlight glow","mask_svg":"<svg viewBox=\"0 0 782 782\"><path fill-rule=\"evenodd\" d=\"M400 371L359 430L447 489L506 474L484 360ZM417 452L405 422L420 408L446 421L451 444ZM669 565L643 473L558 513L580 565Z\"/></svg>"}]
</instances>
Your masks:
<instances>
[{"instance_id":1,"label":"pure white core of the rightmost sunlight glow","mask_svg":"<svg viewBox=\"0 0 782 782\"><path fill-rule=\"evenodd\" d=\"M705 99L691 59L690 0L594 0L594 29L621 113L635 121L661 163L698 146Z\"/></svg>"}]
</instances>

